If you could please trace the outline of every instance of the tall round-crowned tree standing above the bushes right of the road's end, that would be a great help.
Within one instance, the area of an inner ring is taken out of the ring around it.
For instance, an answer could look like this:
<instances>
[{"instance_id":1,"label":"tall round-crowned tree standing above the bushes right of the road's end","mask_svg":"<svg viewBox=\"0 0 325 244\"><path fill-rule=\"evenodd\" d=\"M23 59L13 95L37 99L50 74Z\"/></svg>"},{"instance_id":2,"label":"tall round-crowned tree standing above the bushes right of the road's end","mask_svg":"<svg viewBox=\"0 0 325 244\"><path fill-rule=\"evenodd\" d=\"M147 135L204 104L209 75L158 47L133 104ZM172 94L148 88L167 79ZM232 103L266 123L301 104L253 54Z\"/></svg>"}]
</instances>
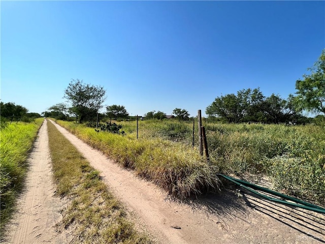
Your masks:
<instances>
[{"instance_id":1,"label":"tall round-crowned tree standing above the bushes right of the road's end","mask_svg":"<svg viewBox=\"0 0 325 244\"><path fill-rule=\"evenodd\" d=\"M72 79L65 91L64 98L68 99L74 113L79 116L79 122L96 118L96 113L103 107L106 99L103 86L84 84L82 80Z\"/></svg>"}]
</instances>

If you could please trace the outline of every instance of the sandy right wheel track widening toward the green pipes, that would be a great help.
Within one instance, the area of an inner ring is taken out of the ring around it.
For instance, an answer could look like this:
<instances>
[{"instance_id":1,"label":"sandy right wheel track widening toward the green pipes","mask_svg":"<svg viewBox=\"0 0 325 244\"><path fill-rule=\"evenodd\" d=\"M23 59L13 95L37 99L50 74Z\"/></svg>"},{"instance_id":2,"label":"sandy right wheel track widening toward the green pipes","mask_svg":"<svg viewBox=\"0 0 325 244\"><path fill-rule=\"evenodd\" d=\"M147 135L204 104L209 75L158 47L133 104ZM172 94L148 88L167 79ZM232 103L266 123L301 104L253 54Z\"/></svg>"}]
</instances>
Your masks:
<instances>
[{"instance_id":1,"label":"sandy right wheel track widening toward the green pipes","mask_svg":"<svg viewBox=\"0 0 325 244\"><path fill-rule=\"evenodd\" d=\"M92 167L101 171L104 182L131 211L138 226L147 229L159 243L319 243L325 222L315 228L318 240L304 229L306 222L296 224L281 220L281 212L268 212L259 203L247 203L245 197L223 194L202 197L191 204L167 199L167 193L151 182L139 179L107 159L82 140L51 121L56 128L81 152ZM263 202L263 204L269 204ZM292 209L270 204L285 211L290 218ZM306 214L308 217L309 213ZM280 216L280 217L279 217ZM319 215L318 215L319 216ZM321 216L316 218L324 220ZM173 227L180 227L173 228ZM321 232L317 232L320 230ZM325 242L324 242L325 243Z\"/></svg>"}]
</instances>

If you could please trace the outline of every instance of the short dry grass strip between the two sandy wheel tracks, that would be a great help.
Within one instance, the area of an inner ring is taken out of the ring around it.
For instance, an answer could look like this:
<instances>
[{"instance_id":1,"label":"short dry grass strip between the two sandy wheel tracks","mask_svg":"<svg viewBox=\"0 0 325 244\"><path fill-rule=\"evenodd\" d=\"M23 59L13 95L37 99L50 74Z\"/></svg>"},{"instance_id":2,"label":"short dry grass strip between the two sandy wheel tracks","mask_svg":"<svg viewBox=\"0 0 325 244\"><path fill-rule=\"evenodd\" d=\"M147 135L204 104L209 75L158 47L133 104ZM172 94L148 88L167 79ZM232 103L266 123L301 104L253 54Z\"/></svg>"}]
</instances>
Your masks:
<instances>
[{"instance_id":1,"label":"short dry grass strip between the two sandy wheel tracks","mask_svg":"<svg viewBox=\"0 0 325 244\"><path fill-rule=\"evenodd\" d=\"M71 228L72 243L150 243L126 219L100 172L50 122L48 133L57 194L71 202L62 212L58 229Z\"/></svg>"}]
</instances>

